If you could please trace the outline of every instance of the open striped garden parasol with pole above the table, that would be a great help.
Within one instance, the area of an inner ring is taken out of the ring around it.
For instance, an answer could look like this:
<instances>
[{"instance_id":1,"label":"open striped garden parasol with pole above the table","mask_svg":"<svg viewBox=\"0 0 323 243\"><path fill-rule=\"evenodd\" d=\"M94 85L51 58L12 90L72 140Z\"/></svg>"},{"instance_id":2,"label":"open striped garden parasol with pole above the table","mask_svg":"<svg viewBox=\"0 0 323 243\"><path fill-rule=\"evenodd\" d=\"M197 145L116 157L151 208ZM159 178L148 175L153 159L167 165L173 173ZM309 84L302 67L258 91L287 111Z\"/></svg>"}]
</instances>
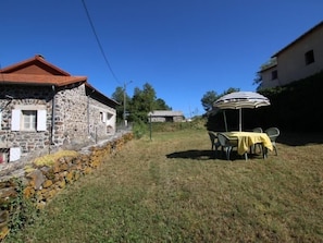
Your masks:
<instances>
[{"instance_id":1,"label":"open striped garden parasol with pole above the table","mask_svg":"<svg viewBox=\"0 0 323 243\"><path fill-rule=\"evenodd\" d=\"M213 102L213 107L218 107L221 110L225 109L238 109L239 110L239 131L241 131L241 109L243 108L258 108L270 106L270 100L256 92L234 92L222 96Z\"/></svg>"}]
</instances>

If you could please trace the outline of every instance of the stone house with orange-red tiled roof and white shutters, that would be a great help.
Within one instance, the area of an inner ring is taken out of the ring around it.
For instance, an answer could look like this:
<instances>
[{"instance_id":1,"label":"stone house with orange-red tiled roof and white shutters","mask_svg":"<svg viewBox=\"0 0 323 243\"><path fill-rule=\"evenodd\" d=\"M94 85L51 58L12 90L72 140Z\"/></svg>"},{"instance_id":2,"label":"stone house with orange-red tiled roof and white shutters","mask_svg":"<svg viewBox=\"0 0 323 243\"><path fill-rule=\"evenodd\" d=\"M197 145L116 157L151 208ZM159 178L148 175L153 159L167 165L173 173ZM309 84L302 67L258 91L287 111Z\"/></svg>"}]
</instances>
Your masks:
<instances>
[{"instance_id":1,"label":"stone house with orange-red tiled roof and white shutters","mask_svg":"<svg viewBox=\"0 0 323 243\"><path fill-rule=\"evenodd\" d=\"M119 104L41 56L0 70L0 165L115 133Z\"/></svg>"}]
</instances>

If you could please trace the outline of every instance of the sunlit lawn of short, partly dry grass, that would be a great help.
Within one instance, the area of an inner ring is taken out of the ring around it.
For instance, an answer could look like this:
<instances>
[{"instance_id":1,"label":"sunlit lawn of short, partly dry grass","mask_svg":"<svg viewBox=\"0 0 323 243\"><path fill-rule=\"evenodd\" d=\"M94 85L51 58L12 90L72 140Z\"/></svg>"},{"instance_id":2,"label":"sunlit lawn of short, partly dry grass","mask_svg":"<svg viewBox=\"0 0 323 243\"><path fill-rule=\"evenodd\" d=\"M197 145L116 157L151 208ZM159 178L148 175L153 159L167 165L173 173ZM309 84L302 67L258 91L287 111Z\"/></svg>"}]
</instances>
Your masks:
<instances>
[{"instance_id":1,"label":"sunlit lawn of short, partly dry grass","mask_svg":"<svg viewBox=\"0 0 323 243\"><path fill-rule=\"evenodd\" d=\"M132 141L5 242L323 242L321 144L248 161L210 147L204 130Z\"/></svg>"}]
</instances>

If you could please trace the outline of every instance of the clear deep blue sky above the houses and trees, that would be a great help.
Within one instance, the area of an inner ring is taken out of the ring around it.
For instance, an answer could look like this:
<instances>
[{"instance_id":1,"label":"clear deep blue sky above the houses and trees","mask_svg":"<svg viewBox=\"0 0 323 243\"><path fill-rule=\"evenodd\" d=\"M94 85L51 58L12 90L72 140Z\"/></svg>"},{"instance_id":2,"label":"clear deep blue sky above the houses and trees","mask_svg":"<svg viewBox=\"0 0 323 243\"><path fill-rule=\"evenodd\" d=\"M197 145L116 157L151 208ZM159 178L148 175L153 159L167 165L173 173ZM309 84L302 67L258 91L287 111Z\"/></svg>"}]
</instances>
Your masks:
<instances>
[{"instance_id":1,"label":"clear deep blue sky above the houses and trees","mask_svg":"<svg viewBox=\"0 0 323 243\"><path fill-rule=\"evenodd\" d=\"M323 20L322 0L84 2L114 75L82 0L1 1L1 68L40 53L109 97L149 83L186 117L209 90L256 90L260 65Z\"/></svg>"}]
</instances>

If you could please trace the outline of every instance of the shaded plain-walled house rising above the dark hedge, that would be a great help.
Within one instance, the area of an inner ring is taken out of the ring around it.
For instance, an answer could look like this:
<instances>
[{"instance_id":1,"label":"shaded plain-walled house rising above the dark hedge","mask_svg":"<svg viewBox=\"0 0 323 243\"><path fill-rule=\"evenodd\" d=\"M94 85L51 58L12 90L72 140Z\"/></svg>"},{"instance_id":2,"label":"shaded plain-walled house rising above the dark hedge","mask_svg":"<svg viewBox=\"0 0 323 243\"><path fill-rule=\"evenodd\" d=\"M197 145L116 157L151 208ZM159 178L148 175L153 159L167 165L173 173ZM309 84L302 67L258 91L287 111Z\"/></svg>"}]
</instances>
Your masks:
<instances>
[{"instance_id":1,"label":"shaded plain-walled house rising above the dark hedge","mask_svg":"<svg viewBox=\"0 0 323 243\"><path fill-rule=\"evenodd\" d=\"M289 84L323 71L323 22L271 57L259 72L261 88Z\"/></svg>"}]
</instances>

